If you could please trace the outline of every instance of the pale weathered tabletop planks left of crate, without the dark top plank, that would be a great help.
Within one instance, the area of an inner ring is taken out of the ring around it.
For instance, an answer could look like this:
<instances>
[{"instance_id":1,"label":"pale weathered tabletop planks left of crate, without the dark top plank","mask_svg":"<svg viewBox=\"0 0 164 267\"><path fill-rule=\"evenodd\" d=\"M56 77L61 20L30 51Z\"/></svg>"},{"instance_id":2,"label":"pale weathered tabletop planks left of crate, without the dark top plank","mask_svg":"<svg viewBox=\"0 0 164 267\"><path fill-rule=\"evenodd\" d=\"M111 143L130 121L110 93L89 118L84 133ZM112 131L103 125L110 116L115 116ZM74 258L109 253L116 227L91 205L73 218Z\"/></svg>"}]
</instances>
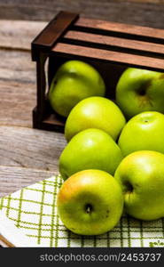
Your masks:
<instances>
[{"instance_id":1,"label":"pale weathered tabletop planks left of crate, without the dark top plank","mask_svg":"<svg viewBox=\"0 0 164 267\"><path fill-rule=\"evenodd\" d=\"M30 42L45 22L0 20L0 197L57 173L63 134L32 129Z\"/></svg>"}]
</instances>

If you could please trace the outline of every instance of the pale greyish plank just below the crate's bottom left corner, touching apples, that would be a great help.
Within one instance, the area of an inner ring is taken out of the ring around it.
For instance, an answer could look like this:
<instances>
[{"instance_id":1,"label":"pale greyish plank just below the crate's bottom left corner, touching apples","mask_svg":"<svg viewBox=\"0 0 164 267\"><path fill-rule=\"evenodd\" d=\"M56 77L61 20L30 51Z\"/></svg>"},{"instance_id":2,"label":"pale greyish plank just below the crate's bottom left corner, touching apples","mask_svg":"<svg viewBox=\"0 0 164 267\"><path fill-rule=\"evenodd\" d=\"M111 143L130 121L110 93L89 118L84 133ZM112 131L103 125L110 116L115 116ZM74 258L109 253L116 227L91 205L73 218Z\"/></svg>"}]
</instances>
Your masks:
<instances>
[{"instance_id":1,"label":"pale greyish plank just below the crate's bottom left corner, touching apples","mask_svg":"<svg viewBox=\"0 0 164 267\"><path fill-rule=\"evenodd\" d=\"M0 166L57 171L59 155L65 145L63 134L0 126Z\"/></svg>"}]
</instances>

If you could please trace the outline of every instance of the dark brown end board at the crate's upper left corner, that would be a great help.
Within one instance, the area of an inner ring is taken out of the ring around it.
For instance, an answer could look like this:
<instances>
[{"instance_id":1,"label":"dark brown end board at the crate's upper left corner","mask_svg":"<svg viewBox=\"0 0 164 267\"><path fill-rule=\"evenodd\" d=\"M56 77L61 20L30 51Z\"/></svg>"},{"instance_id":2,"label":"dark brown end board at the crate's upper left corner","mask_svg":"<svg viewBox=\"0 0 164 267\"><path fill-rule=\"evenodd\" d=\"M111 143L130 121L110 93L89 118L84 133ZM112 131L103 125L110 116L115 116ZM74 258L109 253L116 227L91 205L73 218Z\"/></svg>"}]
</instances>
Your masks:
<instances>
[{"instance_id":1,"label":"dark brown end board at the crate's upper left corner","mask_svg":"<svg viewBox=\"0 0 164 267\"><path fill-rule=\"evenodd\" d=\"M50 49L66 29L78 18L78 14L72 12L59 12L43 31L35 37L32 43L32 59L37 59L36 49L38 47Z\"/></svg>"}]
</instances>

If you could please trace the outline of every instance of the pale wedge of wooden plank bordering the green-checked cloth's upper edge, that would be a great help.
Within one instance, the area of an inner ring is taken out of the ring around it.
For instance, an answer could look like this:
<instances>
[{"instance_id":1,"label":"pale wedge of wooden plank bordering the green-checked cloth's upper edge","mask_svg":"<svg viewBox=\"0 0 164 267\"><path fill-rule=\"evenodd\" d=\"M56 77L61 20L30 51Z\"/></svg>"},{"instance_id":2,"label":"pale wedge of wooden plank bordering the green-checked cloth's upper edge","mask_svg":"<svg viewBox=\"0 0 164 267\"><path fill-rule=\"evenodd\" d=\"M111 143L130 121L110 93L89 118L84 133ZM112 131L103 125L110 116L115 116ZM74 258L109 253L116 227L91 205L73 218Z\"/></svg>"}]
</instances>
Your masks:
<instances>
[{"instance_id":1,"label":"pale wedge of wooden plank bordering the green-checked cloth's upper edge","mask_svg":"<svg viewBox=\"0 0 164 267\"><path fill-rule=\"evenodd\" d=\"M58 172L17 166L0 166L0 198L30 184L47 179L54 174L58 174Z\"/></svg>"}]
</instances>

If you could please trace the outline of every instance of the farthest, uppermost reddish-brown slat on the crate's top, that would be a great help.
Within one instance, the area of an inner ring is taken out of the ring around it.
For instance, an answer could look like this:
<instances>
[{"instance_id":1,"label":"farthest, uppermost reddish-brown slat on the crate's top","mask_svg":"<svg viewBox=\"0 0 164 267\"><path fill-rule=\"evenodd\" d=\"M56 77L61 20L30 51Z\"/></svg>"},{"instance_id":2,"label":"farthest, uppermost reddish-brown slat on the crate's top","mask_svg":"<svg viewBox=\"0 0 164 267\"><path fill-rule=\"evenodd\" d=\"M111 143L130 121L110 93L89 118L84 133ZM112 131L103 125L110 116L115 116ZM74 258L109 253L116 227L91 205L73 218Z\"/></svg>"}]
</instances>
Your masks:
<instances>
[{"instance_id":1,"label":"farthest, uppermost reddish-brown slat on the crate's top","mask_svg":"<svg viewBox=\"0 0 164 267\"><path fill-rule=\"evenodd\" d=\"M115 23L103 20L90 20L82 17L79 18L79 20L77 20L74 25L84 28L95 28L97 30L108 30L120 34L146 36L150 38L159 38L160 40L164 40L164 29L160 28L138 27L136 25L126 25L123 23Z\"/></svg>"}]
</instances>

